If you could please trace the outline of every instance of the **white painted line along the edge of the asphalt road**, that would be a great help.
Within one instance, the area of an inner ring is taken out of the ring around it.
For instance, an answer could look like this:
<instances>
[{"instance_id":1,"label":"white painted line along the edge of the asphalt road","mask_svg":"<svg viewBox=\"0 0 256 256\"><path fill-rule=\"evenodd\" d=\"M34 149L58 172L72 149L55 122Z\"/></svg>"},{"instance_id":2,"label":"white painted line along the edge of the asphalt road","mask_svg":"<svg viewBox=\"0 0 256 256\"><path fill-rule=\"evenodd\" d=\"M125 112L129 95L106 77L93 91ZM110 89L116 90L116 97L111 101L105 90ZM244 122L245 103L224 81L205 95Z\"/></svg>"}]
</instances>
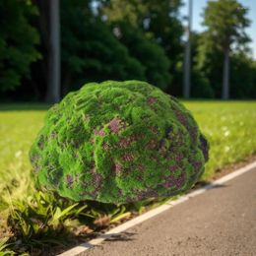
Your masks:
<instances>
[{"instance_id":1,"label":"white painted line along the edge of the asphalt road","mask_svg":"<svg viewBox=\"0 0 256 256\"><path fill-rule=\"evenodd\" d=\"M230 179L233 179L249 170L252 170L253 168L256 167L256 161L242 167L242 168L239 168L227 175L225 175L224 177L212 182L211 184L209 185L206 185L204 186L203 188L199 188L193 192L190 192L188 193L187 195L184 195L184 196L181 196L180 198L178 198L177 200L173 200L173 201L168 201L166 202L165 204L161 205L160 207L158 208L155 208L139 217L136 217L134 219L132 219L131 221L128 221L124 224L120 224L110 230L108 230L107 232L105 232L104 234L101 234L100 236L98 236L97 238L89 241L89 242L86 242L86 243L82 243L80 244L79 246L76 246L68 251L65 251L61 254L59 254L59 256L77 256L79 255L80 253L83 253L85 252L86 250L94 247L95 245L101 243L102 241L104 241L105 239L107 238L111 238L112 236L114 235L117 235L119 234L120 232L123 232L125 231L126 229L136 225L136 224L141 224L157 215L159 215L160 213L170 209L171 207L174 207L176 205L179 205L185 201L187 201L189 198L192 198L192 197L195 197L195 196L198 196L200 194L203 194L205 193L207 190L213 188L213 187L216 187L218 185L221 185L223 183L225 183L226 181L230 180Z\"/></svg>"}]
</instances>

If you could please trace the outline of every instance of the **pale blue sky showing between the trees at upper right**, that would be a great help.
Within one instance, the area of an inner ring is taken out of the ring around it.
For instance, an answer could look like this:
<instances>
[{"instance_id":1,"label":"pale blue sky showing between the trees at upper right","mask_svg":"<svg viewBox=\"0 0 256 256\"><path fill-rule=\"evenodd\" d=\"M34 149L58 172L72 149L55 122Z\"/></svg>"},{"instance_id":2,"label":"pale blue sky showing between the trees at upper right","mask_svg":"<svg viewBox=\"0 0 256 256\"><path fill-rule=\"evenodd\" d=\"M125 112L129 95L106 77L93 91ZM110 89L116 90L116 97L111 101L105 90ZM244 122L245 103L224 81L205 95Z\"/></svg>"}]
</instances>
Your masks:
<instances>
[{"instance_id":1,"label":"pale blue sky showing between the trees at upper right","mask_svg":"<svg viewBox=\"0 0 256 256\"><path fill-rule=\"evenodd\" d=\"M188 13L188 1L183 0L184 6L181 8L181 15L186 16ZM193 0L193 18L192 18L192 30L196 32L202 32L205 28L201 25L203 22L202 13L207 5L208 0ZM251 37L250 47L254 59L256 59L256 0L238 0L244 7L249 8L248 18L251 20L251 26L246 32ZM186 22L184 22L186 23Z\"/></svg>"}]
</instances>

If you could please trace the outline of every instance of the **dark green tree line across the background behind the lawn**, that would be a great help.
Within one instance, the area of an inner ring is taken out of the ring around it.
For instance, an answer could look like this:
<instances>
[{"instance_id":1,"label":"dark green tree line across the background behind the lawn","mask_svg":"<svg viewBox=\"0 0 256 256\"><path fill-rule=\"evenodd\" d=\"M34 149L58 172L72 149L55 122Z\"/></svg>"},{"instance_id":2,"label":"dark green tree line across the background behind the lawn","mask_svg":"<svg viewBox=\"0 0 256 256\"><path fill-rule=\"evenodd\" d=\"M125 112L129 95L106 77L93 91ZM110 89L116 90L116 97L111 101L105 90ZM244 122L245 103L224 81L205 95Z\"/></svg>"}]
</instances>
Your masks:
<instances>
[{"instance_id":1,"label":"dark green tree line across the background behind the lawn","mask_svg":"<svg viewBox=\"0 0 256 256\"><path fill-rule=\"evenodd\" d=\"M181 0L61 0L61 95L87 82L148 81L182 96ZM0 98L45 100L52 90L50 0L0 2ZM248 9L208 1L204 32L191 32L191 96L255 98Z\"/></svg>"}]
</instances>

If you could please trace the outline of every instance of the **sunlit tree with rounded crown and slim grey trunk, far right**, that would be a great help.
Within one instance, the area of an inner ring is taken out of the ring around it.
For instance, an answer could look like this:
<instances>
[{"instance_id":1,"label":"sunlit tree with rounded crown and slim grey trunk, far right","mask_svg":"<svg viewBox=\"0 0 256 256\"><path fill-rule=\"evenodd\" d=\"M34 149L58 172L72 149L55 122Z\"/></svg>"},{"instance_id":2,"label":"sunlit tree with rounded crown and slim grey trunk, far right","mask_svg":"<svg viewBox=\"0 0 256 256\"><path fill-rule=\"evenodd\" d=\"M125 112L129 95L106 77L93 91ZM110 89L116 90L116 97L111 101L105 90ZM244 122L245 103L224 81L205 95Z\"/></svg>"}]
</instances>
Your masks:
<instances>
[{"instance_id":1,"label":"sunlit tree with rounded crown and slim grey trunk, far right","mask_svg":"<svg viewBox=\"0 0 256 256\"><path fill-rule=\"evenodd\" d=\"M232 47L246 49L249 37L245 29L250 25L246 18L248 9L236 0L209 1L204 13L204 25L207 27L205 35L206 45L215 47L224 56L223 64L223 92L224 99L229 97L229 56Z\"/></svg>"}]
</instances>

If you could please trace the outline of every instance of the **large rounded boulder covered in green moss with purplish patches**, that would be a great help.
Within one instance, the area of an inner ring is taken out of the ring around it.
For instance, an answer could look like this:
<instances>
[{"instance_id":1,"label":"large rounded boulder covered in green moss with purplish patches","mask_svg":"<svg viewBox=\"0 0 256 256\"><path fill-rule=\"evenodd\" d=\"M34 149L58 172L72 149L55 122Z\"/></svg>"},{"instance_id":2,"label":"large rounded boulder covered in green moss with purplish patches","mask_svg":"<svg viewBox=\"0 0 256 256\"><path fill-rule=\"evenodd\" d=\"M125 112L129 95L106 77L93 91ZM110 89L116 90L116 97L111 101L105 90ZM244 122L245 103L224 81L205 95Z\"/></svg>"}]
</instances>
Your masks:
<instances>
[{"instance_id":1,"label":"large rounded boulder covered in green moss with purplish patches","mask_svg":"<svg viewBox=\"0 0 256 256\"><path fill-rule=\"evenodd\" d=\"M31 160L41 188L76 201L124 203L190 189L208 144L173 96L144 82L107 81L48 110Z\"/></svg>"}]
</instances>

